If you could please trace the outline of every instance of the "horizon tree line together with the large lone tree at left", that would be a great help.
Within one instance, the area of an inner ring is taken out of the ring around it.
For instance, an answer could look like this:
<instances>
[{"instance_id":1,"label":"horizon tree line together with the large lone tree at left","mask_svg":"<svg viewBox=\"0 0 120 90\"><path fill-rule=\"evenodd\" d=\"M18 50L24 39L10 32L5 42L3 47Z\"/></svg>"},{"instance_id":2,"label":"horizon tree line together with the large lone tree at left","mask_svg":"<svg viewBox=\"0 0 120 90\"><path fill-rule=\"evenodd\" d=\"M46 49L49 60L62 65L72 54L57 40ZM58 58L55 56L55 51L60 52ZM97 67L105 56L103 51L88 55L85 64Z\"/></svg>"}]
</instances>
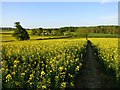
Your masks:
<instances>
[{"instance_id":1,"label":"horizon tree line together with the large lone tree at left","mask_svg":"<svg viewBox=\"0 0 120 90\"><path fill-rule=\"evenodd\" d=\"M20 22L15 22L16 28L2 28L2 30L14 30L13 37L18 40L29 40L30 36L27 30L31 30L31 35L36 36L71 36L88 37L89 33L118 34L120 26L91 26L91 27L60 27L60 28L34 28L25 29Z\"/></svg>"}]
</instances>

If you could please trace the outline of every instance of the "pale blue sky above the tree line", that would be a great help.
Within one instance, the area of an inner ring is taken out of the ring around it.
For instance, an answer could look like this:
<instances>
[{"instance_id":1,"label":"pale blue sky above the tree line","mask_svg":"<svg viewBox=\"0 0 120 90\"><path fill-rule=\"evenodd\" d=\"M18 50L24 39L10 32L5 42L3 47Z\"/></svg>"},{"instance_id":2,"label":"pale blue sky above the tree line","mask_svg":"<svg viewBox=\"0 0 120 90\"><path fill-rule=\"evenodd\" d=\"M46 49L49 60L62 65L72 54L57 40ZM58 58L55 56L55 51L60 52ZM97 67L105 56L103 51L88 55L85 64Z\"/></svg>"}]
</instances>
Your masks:
<instances>
[{"instance_id":1,"label":"pale blue sky above the tree line","mask_svg":"<svg viewBox=\"0 0 120 90\"><path fill-rule=\"evenodd\" d=\"M25 28L117 25L117 2L3 2L2 26Z\"/></svg>"}]
</instances>

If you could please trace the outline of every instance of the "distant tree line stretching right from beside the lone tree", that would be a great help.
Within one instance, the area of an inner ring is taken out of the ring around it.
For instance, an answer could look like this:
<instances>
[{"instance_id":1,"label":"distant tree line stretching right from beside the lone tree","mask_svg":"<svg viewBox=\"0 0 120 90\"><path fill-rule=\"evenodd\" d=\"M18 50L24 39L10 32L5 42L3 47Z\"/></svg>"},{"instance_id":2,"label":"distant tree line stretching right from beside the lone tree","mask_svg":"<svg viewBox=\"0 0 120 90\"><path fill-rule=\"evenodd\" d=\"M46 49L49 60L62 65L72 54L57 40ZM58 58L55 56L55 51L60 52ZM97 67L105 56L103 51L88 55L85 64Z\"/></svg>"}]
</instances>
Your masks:
<instances>
[{"instance_id":1,"label":"distant tree line stretching right from beside the lone tree","mask_svg":"<svg viewBox=\"0 0 120 90\"><path fill-rule=\"evenodd\" d=\"M82 35L84 33L101 33L101 34L118 34L118 28L120 26L93 26L93 27L61 27L61 28L36 28L32 29L31 35L47 36L47 35L71 35L75 36L78 33ZM73 33L75 32L75 33Z\"/></svg>"}]
</instances>

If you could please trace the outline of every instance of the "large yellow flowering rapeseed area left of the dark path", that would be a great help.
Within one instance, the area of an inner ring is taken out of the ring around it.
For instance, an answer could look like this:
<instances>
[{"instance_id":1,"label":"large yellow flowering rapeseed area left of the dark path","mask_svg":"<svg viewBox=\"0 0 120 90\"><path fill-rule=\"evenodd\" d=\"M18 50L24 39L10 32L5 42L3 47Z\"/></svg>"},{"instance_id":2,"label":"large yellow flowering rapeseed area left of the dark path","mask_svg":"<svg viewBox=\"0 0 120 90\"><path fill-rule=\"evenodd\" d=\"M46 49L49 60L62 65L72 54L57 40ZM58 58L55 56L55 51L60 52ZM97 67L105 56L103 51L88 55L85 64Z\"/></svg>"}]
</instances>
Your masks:
<instances>
[{"instance_id":1,"label":"large yellow flowering rapeseed area left of the dark path","mask_svg":"<svg viewBox=\"0 0 120 90\"><path fill-rule=\"evenodd\" d=\"M73 87L73 78L82 67L86 44L85 39L3 43L3 87Z\"/></svg>"}]
</instances>

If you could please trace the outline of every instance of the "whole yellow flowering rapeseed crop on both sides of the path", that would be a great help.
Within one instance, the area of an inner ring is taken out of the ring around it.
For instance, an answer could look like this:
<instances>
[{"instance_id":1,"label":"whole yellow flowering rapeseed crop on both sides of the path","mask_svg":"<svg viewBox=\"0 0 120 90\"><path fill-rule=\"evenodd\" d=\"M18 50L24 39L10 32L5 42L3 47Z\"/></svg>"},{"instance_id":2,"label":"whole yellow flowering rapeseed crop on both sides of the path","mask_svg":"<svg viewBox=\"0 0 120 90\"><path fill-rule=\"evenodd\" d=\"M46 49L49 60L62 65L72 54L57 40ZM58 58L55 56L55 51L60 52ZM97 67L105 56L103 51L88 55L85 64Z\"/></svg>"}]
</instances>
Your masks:
<instances>
[{"instance_id":1,"label":"whole yellow flowering rapeseed crop on both sides of the path","mask_svg":"<svg viewBox=\"0 0 120 90\"><path fill-rule=\"evenodd\" d=\"M100 68L104 66L106 75L115 81L116 86L113 87L118 87L117 84L120 82L118 39L89 38L89 40L92 43L89 48L93 49L99 62L98 66L99 64L102 64ZM3 87L74 88L75 78L82 77L80 73L84 71L87 44L85 39L80 38L3 42L1 62ZM90 65L89 68L96 68L94 64L92 63L93 67ZM96 72L93 70L93 73ZM80 85L79 87L81 88Z\"/></svg>"}]
</instances>

